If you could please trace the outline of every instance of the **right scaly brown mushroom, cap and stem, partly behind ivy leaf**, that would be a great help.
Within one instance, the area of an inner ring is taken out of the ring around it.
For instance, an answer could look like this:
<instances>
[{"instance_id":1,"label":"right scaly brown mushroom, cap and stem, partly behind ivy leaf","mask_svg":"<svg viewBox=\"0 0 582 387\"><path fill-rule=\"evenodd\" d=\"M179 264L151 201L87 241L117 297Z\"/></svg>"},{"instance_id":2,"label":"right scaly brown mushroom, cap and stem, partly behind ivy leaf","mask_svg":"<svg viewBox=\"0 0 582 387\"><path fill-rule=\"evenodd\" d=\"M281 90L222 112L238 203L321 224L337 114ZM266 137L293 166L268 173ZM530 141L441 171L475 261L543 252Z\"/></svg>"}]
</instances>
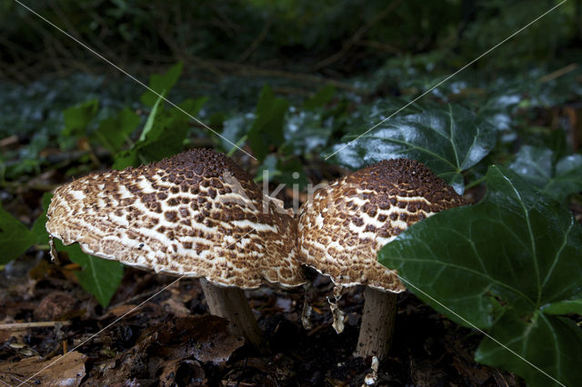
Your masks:
<instances>
[{"instance_id":1,"label":"right scaly brown mushroom, cap and stem, partly behind ivy leaf","mask_svg":"<svg viewBox=\"0 0 582 387\"><path fill-rule=\"evenodd\" d=\"M301 207L302 263L329 275L340 288L366 285L357 356L386 356L396 295L406 290L395 270L377 262L378 250L409 225L464 203L424 164L397 159L348 174L316 190Z\"/></svg>"}]
</instances>

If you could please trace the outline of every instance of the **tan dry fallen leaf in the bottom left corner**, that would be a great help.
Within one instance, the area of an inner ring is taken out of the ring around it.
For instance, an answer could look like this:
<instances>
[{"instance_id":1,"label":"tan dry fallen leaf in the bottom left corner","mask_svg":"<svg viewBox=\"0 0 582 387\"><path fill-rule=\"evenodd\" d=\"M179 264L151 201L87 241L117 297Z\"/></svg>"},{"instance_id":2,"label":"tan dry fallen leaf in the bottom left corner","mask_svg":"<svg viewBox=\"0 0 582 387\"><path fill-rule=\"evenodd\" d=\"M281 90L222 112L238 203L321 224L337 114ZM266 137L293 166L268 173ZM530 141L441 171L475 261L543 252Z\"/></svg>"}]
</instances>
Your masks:
<instances>
[{"instance_id":1,"label":"tan dry fallen leaf in the bottom left corner","mask_svg":"<svg viewBox=\"0 0 582 387\"><path fill-rule=\"evenodd\" d=\"M43 386L78 386L85 377L87 357L81 352L68 352L49 360L31 357L20 362L0 363L0 381L9 385L25 382Z\"/></svg>"}]
</instances>

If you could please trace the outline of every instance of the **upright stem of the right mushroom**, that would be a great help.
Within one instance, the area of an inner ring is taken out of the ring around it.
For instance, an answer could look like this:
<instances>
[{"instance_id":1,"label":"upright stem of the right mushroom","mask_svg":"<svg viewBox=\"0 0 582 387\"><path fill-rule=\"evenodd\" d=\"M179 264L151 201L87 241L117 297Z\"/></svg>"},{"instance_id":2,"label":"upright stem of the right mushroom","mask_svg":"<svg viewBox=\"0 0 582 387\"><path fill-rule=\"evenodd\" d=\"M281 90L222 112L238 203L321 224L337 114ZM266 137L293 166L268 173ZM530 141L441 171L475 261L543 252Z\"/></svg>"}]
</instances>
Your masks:
<instances>
[{"instance_id":1,"label":"upright stem of the right mushroom","mask_svg":"<svg viewBox=\"0 0 582 387\"><path fill-rule=\"evenodd\" d=\"M365 297L356 355L376 356L381 360L386 356L392 342L398 296L396 293L381 292L366 286Z\"/></svg>"}]
</instances>

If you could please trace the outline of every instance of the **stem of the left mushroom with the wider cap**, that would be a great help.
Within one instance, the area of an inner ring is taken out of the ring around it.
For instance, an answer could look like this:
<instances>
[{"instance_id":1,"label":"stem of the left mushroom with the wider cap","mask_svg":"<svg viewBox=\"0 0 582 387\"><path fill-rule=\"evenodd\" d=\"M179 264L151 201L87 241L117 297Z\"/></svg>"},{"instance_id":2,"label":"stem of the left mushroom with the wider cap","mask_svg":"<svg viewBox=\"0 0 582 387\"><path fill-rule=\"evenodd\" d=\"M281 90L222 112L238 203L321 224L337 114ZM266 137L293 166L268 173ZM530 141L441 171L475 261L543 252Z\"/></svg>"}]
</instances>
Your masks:
<instances>
[{"instance_id":1,"label":"stem of the left mushroom with the wider cap","mask_svg":"<svg viewBox=\"0 0 582 387\"><path fill-rule=\"evenodd\" d=\"M256 349L263 351L265 342L256 323L255 314L246 301L245 293L237 287L222 287L201 278L200 284L210 313L230 322L235 336L244 336Z\"/></svg>"}]
</instances>

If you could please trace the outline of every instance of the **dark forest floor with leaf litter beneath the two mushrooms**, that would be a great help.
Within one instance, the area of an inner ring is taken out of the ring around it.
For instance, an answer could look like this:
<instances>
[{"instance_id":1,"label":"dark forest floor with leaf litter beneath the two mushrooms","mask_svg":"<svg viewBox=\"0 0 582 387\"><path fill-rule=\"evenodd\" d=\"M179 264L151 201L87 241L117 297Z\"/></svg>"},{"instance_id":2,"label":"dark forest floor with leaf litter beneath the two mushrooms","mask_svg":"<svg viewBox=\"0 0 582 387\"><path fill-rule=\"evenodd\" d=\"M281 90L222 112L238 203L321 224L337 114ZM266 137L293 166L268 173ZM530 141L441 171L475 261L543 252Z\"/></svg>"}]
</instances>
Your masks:
<instances>
[{"instance_id":1,"label":"dark forest floor with leaf litter beneath the two mushrooms","mask_svg":"<svg viewBox=\"0 0 582 387\"><path fill-rule=\"evenodd\" d=\"M196 279L182 279L143 303L176 277L127 268L104 309L76 283L75 263L47 257L27 255L0 272L3 384L359 386L371 372L371 359L353 355L364 301L359 287L346 289L340 300L346 329L339 335L326 301L333 283L324 276L316 275L308 291L265 286L246 292L269 346L261 354L208 314ZM305 297L313 307L311 330L301 323ZM398 300L394 342L376 385L516 385L513 375L473 360L481 334L411 293ZM54 323L7 327L45 321Z\"/></svg>"}]
</instances>

